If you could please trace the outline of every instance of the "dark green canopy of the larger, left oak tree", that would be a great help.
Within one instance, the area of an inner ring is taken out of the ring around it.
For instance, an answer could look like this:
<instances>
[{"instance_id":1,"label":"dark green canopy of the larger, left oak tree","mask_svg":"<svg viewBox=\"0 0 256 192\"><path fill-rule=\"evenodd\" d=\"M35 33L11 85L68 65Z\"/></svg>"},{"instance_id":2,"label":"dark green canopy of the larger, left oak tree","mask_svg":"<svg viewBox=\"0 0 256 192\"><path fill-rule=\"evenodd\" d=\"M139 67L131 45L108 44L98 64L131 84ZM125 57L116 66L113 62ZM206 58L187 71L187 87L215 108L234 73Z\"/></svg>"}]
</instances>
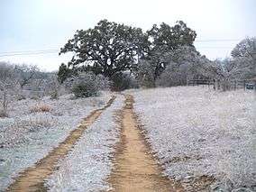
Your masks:
<instances>
[{"instance_id":1,"label":"dark green canopy of the larger, left oak tree","mask_svg":"<svg viewBox=\"0 0 256 192\"><path fill-rule=\"evenodd\" d=\"M135 59L142 57L148 47L148 36L142 29L102 20L93 29L77 31L59 54L72 51L69 66L82 64L85 70L111 78L132 69Z\"/></svg>"}]
</instances>

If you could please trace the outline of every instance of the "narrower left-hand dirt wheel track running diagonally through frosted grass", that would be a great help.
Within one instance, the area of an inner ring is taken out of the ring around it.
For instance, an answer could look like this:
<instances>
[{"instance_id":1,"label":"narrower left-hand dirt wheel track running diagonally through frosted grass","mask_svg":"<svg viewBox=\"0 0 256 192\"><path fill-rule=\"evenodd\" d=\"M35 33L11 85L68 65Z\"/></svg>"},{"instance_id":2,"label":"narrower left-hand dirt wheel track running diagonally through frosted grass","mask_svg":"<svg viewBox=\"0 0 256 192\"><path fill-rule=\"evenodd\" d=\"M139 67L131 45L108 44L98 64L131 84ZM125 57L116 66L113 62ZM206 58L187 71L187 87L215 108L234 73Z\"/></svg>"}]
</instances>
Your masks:
<instances>
[{"instance_id":1,"label":"narrower left-hand dirt wheel track running diagonally through frosted grass","mask_svg":"<svg viewBox=\"0 0 256 192\"><path fill-rule=\"evenodd\" d=\"M7 188L7 191L47 191L47 188L44 187L44 180L48 178L55 169L58 169L56 167L57 162L68 154L87 127L94 123L107 107L112 105L114 99L115 96L112 96L103 108L96 109L89 114L80 123L78 128L69 133L69 136L64 142L61 142L57 148L50 151L46 157L39 160L35 166L25 169L20 176L15 179L14 183Z\"/></svg>"}]
</instances>

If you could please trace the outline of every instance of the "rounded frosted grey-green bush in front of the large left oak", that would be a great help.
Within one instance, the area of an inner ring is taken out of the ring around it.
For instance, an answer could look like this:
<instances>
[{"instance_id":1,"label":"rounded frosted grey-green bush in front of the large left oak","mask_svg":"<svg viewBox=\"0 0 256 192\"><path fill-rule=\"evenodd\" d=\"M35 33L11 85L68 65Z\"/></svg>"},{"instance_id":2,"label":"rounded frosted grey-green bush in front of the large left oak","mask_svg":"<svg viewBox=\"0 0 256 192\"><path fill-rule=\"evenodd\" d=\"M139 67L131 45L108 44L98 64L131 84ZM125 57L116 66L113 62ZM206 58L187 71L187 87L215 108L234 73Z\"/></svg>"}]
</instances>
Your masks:
<instances>
[{"instance_id":1,"label":"rounded frosted grey-green bush in front of the large left oak","mask_svg":"<svg viewBox=\"0 0 256 192\"><path fill-rule=\"evenodd\" d=\"M95 75L93 72L82 72L78 77L69 78L66 81L66 87L76 97L97 96L100 90L109 87L109 81L102 75Z\"/></svg>"}]
</instances>

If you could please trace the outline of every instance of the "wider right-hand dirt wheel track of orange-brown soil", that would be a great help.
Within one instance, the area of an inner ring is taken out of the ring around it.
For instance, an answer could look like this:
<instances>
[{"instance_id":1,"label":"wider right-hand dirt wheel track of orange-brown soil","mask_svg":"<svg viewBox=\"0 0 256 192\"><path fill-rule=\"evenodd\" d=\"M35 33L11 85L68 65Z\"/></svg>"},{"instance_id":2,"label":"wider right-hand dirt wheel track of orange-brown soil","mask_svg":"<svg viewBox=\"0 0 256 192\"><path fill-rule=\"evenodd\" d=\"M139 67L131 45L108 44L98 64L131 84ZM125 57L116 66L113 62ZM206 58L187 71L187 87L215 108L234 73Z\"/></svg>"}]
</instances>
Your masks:
<instances>
[{"instance_id":1,"label":"wider right-hand dirt wheel track of orange-brown soil","mask_svg":"<svg viewBox=\"0 0 256 192\"><path fill-rule=\"evenodd\" d=\"M116 152L115 169L109 178L112 191L184 191L180 185L162 176L139 130L133 103L133 96L125 96L121 114L122 138Z\"/></svg>"}]
</instances>

